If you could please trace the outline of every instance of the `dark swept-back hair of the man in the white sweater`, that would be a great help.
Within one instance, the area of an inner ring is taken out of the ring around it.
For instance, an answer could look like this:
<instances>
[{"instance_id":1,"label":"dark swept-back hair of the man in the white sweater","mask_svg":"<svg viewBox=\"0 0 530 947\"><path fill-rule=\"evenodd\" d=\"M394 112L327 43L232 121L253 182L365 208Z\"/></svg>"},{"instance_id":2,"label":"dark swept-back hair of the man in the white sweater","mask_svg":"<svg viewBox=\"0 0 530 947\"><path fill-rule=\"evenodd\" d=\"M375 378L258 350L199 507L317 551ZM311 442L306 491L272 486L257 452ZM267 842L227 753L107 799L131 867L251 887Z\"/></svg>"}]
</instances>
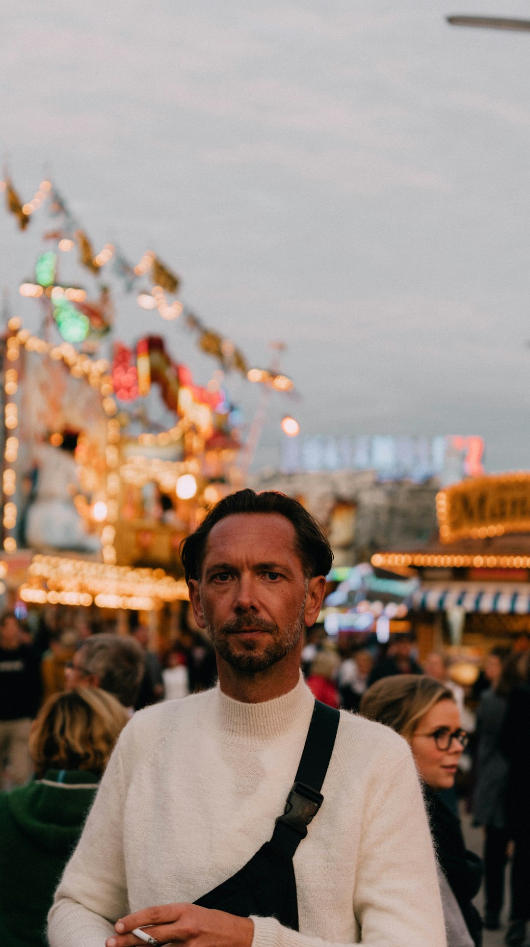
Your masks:
<instances>
[{"instance_id":1,"label":"dark swept-back hair of the man in the white sweater","mask_svg":"<svg viewBox=\"0 0 530 947\"><path fill-rule=\"evenodd\" d=\"M210 531L226 516L234 516L237 513L279 513L280 516L285 516L294 527L296 551L306 578L327 576L333 562L331 547L323 528L298 500L276 491L256 493L254 490L239 490L225 496L210 509L201 526L186 536L181 543L180 553L186 581L201 577Z\"/></svg>"}]
</instances>

